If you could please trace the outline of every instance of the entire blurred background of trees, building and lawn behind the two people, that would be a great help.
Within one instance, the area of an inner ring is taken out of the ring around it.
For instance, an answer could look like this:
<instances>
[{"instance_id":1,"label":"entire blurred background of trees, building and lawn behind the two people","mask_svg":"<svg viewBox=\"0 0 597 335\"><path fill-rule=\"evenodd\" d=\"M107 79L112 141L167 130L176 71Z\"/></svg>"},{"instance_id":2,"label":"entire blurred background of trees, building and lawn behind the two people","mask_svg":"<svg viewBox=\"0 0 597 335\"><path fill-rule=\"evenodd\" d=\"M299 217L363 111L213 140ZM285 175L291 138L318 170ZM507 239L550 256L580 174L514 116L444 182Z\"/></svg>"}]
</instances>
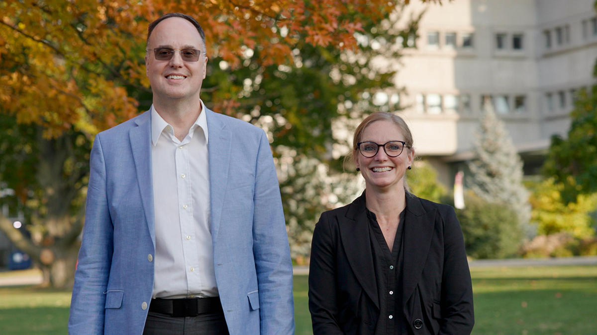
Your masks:
<instances>
[{"instance_id":1,"label":"entire blurred background of trees, building and lawn behind the two people","mask_svg":"<svg viewBox=\"0 0 597 335\"><path fill-rule=\"evenodd\" d=\"M473 334L596 334L595 6L0 2L0 333L66 334L93 138L149 108L147 24L180 11L206 33L202 100L271 143L297 334L313 227L364 189L344 157L374 111L413 131L411 192L457 209Z\"/></svg>"}]
</instances>

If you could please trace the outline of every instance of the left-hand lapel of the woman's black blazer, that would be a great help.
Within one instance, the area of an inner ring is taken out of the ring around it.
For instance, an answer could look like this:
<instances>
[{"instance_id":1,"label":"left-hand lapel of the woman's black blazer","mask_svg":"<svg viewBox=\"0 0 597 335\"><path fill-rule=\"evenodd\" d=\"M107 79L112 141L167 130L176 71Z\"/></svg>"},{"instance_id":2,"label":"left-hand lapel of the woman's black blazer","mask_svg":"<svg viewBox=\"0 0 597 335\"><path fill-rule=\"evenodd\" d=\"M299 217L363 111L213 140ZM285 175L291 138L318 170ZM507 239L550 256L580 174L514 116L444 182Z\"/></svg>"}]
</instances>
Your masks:
<instances>
[{"instance_id":1,"label":"left-hand lapel of the woman's black blazer","mask_svg":"<svg viewBox=\"0 0 597 335\"><path fill-rule=\"evenodd\" d=\"M341 218L340 218L341 219ZM365 207L365 193L356 198L346 219L338 225L344 253L361 287L379 309L377 281L373 268L373 253L369 236L369 221Z\"/></svg>"}]
</instances>

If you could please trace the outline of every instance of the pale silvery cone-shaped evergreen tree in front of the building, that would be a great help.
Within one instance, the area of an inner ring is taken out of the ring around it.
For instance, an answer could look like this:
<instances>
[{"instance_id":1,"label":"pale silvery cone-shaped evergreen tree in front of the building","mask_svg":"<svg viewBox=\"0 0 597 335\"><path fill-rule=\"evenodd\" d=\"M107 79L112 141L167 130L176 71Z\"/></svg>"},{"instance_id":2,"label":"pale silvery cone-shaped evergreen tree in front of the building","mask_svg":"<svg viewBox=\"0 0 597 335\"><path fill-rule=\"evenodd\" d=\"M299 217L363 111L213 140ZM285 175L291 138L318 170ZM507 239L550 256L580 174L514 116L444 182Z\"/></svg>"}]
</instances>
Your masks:
<instances>
[{"instance_id":1,"label":"pale silvery cone-shaped evergreen tree in front of the building","mask_svg":"<svg viewBox=\"0 0 597 335\"><path fill-rule=\"evenodd\" d=\"M522 160L489 100L485 100L475 135L475 159L469 162L470 188L485 201L510 207L518 216L519 227L528 232L531 207L522 185Z\"/></svg>"}]
</instances>

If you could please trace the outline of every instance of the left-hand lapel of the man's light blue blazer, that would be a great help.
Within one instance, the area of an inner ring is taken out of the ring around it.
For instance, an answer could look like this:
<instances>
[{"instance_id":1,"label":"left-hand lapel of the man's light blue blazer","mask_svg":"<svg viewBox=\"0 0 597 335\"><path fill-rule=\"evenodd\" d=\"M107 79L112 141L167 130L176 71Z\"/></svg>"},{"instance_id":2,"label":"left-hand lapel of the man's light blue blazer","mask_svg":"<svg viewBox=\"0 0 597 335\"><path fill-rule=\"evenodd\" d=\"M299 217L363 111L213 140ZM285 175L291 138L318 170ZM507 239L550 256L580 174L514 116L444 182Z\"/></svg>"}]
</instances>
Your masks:
<instances>
[{"instance_id":1,"label":"left-hand lapel of the man's light blue blazer","mask_svg":"<svg viewBox=\"0 0 597 335\"><path fill-rule=\"evenodd\" d=\"M153 177L151 161L151 110L135 120L137 127L131 128L129 137L133 159L137 170L137 182L141 192L141 203L145 212L147 228L155 248L155 216L153 213Z\"/></svg>"}]
</instances>

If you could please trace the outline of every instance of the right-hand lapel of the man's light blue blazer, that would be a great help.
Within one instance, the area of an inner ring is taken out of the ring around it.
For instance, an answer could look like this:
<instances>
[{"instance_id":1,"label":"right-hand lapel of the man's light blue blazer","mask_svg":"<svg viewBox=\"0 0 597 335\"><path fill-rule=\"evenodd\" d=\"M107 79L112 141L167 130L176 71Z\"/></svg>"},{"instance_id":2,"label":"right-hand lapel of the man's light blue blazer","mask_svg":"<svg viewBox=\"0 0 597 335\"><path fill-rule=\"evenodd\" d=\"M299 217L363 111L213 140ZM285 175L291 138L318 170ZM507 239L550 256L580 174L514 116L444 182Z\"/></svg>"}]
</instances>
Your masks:
<instances>
[{"instance_id":1,"label":"right-hand lapel of the man's light blue blazer","mask_svg":"<svg viewBox=\"0 0 597 335\"><path fill-rule=\"evenodd\" d=\"M210 160L211 236L217 240L220 218L226 195L228 165L230 162L230 130L216 113L207 108L207 129L209 134L207 150Z\"/></svg>"}]
</instances>

